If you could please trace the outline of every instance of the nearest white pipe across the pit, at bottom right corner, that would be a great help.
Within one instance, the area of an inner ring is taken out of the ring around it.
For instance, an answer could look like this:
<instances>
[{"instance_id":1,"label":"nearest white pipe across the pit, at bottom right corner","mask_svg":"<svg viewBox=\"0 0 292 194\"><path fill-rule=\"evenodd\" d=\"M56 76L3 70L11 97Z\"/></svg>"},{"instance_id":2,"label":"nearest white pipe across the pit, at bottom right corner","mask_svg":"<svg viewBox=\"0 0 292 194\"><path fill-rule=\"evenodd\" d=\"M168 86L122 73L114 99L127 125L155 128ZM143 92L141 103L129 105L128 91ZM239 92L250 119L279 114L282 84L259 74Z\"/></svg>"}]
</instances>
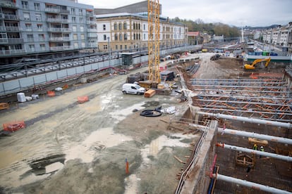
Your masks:
<instances>
[{"instance_id":1,"label":"nearest white pipe across the pit, at bottom right corner","mask_svg":"<svg viewBox=\"0 0 292 194\"><path fill-rule=\"evenodd\" d=\"M264 185L261 185L258 183L253 183L253 182L245 181L242 179L236 179L236 178L233 178L231 176L224 176L221 174L213 174L213 177L217 180L227 181L230 183L236 183L236 184L239 184L241 186L247 186L249 188L253 188L253 189L257 189L257 190L263 190L263 191L268 192L268 193L291 194L291 192L288 192L286 190L280 190L278 188L264 186Z\"/></svg>"}]
</instances>

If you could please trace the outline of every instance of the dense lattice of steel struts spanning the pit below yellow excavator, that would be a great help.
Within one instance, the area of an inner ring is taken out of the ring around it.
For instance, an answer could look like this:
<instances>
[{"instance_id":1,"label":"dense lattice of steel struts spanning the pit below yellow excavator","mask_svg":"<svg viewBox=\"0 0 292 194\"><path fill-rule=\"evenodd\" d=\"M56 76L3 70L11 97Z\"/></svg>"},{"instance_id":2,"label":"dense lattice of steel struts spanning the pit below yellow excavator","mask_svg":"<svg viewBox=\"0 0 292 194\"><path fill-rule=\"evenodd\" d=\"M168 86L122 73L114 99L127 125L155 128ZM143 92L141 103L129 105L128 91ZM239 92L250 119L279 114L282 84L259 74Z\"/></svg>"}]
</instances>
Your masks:
<instances>
[{"instance_id":1,"label":"dense lattice of steel struts spanning the pit below yellow excavator","mask_svg":"<svg viewBox=\"0 0 292 194\"><path fill-rule=\"evenodd\" d=\"M283 79L191 79L204 112L291 122L291 90Z\"/></svg>"}]
</instances>

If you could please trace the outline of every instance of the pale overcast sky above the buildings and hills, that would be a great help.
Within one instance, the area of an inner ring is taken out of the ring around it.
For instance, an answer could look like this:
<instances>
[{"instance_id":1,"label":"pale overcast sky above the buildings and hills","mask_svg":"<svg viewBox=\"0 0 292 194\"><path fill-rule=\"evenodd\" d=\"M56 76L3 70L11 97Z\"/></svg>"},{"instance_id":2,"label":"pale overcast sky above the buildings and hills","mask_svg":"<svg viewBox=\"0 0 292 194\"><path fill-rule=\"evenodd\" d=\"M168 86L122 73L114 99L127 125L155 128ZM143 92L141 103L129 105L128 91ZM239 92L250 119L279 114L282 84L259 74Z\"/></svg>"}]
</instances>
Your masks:
<instances>
[{"instance_id":1,"label":"pale overcast sky above the buildings and hills","mask_svg":"<svg viewBox=\"0 0 292 194\"><path fill-rule=\"evenodd\" d=\"M142 0L78 0L95 8L118 8ZM162 15L236 26L286 25L292 22L292 0L160 0Z\"/></svg>"}]
</instances>

